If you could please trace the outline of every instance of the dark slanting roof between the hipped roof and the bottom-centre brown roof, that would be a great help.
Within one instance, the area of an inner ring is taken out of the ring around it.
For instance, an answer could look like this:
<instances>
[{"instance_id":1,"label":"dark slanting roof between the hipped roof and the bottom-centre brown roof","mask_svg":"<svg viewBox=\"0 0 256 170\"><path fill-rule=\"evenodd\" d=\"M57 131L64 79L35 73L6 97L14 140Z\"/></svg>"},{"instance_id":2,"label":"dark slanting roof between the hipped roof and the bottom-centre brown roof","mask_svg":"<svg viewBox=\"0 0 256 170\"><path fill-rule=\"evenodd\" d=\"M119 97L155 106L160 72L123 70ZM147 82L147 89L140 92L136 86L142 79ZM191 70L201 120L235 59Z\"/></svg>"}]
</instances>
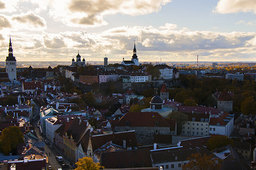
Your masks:
<instances>
[{"instance_id":1,"label":"dark slanting roof between the hipped roof and the bottom-centre brown roof","mask_svg":"<svg viewBox=\"0 0 256 170\"><path fill-rule=\"evenodd\" d=\"M137 147L137 139L134 130L94 135L91 137L93 151L109 141L112 141L115 145L123 146L123 140L126 141L126 147Z\"/></svg>"}]
</instances>

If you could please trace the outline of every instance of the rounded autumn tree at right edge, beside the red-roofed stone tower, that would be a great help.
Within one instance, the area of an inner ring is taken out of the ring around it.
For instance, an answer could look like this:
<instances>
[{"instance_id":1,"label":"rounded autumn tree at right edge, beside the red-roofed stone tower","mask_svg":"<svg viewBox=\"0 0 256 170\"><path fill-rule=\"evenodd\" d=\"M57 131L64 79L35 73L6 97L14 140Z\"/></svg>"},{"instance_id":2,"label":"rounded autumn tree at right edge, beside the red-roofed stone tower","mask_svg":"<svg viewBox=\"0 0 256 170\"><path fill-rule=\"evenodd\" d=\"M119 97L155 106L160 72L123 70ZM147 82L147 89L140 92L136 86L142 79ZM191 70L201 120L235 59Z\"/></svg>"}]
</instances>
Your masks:
<instances>
[{"instance_id":1,"label":"rounded autumn tree at right edge, beside the red-roofed stone tower","mask_svg":"<svg viewBox=\"0 0 256 170\"><path fill-rule=\"evenodd\" d=\"M253 96L246 97L246 99L241 103L241 111L243 114L256 114L256 102Z\"/></svg>"}]
</instances>

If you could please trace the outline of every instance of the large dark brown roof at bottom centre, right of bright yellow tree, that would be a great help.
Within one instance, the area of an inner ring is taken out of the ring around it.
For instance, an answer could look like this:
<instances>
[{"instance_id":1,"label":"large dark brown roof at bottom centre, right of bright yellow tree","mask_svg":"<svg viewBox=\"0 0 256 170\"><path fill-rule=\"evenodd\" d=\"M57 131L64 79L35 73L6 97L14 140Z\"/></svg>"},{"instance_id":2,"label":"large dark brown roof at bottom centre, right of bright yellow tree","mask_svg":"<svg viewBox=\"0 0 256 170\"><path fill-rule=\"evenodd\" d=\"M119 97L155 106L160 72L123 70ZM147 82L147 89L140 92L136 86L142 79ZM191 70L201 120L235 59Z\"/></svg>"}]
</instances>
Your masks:
<instances>
[{"instance_id":1,"label":"large dark brown roof at bottom centre, right of bright yellow tree","mask_svg":"<svg viewBox=\"0 0 256 170\"><path fill-rule=\"evenodd\" d=\"M106 152L101 160L105 168L152 167L149 149Z\"/></svg>"}]
</instances>

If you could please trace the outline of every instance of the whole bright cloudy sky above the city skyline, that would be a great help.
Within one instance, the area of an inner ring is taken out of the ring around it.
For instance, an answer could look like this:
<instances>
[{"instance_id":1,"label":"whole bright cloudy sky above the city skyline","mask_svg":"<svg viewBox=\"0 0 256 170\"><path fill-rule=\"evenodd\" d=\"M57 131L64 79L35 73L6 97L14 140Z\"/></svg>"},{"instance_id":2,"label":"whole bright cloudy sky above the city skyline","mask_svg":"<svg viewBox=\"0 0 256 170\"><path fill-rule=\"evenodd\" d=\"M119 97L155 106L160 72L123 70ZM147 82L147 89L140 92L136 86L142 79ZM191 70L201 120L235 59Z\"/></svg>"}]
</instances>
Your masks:
<instances>
[{"instance_id":1,"label":"whole bright cloudy sky above the city skyline","mask_svg":"<svg viewBox=\"0 0 256 170\"><path fill-rule=\"evenodd\" d=\"M252 0L0 0L0 61L256 61Z\"/></svg>"}]
</instances>

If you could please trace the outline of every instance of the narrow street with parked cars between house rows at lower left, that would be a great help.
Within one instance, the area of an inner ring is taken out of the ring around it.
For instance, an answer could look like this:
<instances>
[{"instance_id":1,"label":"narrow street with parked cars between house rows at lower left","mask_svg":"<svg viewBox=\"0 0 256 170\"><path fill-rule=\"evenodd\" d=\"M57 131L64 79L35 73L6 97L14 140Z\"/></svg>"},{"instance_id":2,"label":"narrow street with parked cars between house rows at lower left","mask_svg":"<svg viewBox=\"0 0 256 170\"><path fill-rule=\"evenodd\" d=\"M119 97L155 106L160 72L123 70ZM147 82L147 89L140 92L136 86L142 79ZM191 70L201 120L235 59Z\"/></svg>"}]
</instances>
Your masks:
<instances>
[{"instance_id":1,"label":"narrow street with parked cars between house rows at lower left","mask_svg":"<svg viewBox=\"0 0 256 170\"><path fill-rule=\"evenodd\" d=\"M34 126L34 128L35 128L36 135L38 135L39 141L42 141L43 137L42 137L42 135L41 135L40 132L39 132L39 128L36 128L37 122L38 122L38 121L34 122L34 125L33 125L33 126ZM50 143L51 143L51 142L50 142ZM66 160L66 159L64 159L64 158L63 158L64 162L62 162L62 163L57 162L55 156L62 156L62 155L63 155L63 154L62 154L62 151L61 151L59 148L57 148L55 145L53 145L53 143L51 143L51 145L53 146L53 149L51 149L51 148L49 147L49 145L47 145L46 143L45 143L45 145L46 145L46 147L44 147L44 151L45 151L45 153L46 153L47 156L48 156L48 162L49 162L48 165L51 165L51 166L52 166L52 169L61 168L61 164L63 164L63 163L68 164L69 167L62 168L62 169L72 169L72 167L71 167L71 165L69 164L68 160ZM48 165L47 165L47 169L48 169Z\"/></svg>"}]
</instances>

